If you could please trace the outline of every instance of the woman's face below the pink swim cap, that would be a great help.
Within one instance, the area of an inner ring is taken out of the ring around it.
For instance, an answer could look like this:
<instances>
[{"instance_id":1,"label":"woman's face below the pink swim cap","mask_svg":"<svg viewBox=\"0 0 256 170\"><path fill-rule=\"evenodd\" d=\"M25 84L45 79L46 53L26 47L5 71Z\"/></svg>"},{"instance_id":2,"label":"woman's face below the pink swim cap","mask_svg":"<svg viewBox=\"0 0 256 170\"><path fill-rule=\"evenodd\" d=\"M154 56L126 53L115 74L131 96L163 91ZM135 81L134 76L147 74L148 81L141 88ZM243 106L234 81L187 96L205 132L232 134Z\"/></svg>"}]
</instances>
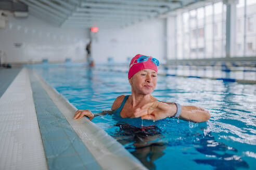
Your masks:
<instances>
[{"instance_id":1,"label":"woman's face below the pink swim cap","mask_svg":"<svg viewBox=\"0 0 256 170\"><path fill-rule=\"evenodd\" d=\"M133 75L129 82L135 92L150 94L157 85L157 72L152 69L143 69Z\"/></svg>"}]
</instances>

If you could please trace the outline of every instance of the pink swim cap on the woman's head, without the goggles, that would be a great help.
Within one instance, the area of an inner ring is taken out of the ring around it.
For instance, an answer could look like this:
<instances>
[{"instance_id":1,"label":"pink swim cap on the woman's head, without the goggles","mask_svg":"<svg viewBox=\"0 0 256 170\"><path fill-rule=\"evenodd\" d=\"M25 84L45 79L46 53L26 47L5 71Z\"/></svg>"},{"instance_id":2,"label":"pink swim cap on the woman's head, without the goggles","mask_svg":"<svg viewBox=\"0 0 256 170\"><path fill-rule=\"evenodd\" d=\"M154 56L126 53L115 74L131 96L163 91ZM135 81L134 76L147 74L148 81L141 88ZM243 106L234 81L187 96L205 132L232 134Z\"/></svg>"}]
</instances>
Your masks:
<instances>
[{"instance_id":1,"label":"pink swim cap on the woman's head, without the goggles","mask_svg":"<svg viewBox=\"0 0 256 170\"><path fill-rule=\"evenodd\" d=\"M129 66L128 79L130 79L131 77L133 77L133 75L135 75L137 72L139 72L140 70L143 70L143 69L152 69L157 72L157 65L151 61L152 56L149 56L148 60L145 62L137 63L137 59L140 56L146 56L146 55L137 54L134 56L134 58L132 58L130 66Z\"/></svg>"}]
</instances>

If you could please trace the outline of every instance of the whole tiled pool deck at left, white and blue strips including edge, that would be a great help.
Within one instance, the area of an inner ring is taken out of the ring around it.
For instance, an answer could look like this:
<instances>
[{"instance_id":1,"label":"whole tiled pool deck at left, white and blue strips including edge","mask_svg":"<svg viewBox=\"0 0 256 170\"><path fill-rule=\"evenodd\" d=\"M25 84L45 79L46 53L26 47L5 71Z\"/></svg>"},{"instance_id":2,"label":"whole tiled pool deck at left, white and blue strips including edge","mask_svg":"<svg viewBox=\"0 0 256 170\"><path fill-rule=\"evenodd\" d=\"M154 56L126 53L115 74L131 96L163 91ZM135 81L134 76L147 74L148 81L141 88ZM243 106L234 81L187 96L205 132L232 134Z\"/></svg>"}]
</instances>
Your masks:
<instances>
[{"instance_id":1,"label":"whole tiled pool deck at left, white and blue strips including edge","mask_svg":"<svg viewBox=\"0 0 256 170\"><path fill-rule=\"evenodd\" d=\"M0 76L0 169L146 169L32 70Z\"/></svg>"}]
</instances>

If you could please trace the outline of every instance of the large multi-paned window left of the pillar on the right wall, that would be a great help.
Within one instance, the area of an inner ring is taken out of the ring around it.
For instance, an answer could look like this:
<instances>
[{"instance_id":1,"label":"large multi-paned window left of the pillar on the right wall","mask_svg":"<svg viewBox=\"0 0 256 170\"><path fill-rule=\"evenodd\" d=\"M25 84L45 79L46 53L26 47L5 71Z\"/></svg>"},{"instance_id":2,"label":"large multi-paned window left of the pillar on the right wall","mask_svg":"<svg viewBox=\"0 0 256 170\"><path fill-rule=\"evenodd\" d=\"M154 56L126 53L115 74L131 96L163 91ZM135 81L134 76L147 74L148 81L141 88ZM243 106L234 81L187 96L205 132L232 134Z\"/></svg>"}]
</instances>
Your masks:
<instances>
[{"instance_id":1,"label":"large multi-paned window left of the pillar on the right wall","mask_svg":"<svg viewBox=\"0 0 256 170\"><path fill-rule=\"evenodd\" d=\"M224 57L225 15L226 8L223 2L196 9L185 9L178 14L176 17L177 40L175 42L177 58Z\"/></svg>"}]
</instances>

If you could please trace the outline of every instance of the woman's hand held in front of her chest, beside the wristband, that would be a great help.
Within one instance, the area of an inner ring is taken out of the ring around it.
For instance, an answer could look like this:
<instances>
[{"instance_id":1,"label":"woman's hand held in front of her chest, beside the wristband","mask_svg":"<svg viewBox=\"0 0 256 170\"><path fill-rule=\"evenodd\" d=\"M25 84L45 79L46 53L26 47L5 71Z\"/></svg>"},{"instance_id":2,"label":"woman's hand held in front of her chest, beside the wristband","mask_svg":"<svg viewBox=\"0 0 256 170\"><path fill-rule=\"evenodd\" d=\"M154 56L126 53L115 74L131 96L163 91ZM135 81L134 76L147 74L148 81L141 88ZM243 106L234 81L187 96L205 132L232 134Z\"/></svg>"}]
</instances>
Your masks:
<instances>
[{"instance_id":1,"label":"woman's hand held in front of her chest, beside the wristband","mask_svg":"<svg viewBox=\"0 0 256 170\"><path fill-rule=\"evenodd\" d=\"M152 102L144 105L142 108L135 109L134 116L147 120L160 120L172 117L176 114L177 107L175 104L168 105L162 102Z\"/></svg>"}]
</instances>

